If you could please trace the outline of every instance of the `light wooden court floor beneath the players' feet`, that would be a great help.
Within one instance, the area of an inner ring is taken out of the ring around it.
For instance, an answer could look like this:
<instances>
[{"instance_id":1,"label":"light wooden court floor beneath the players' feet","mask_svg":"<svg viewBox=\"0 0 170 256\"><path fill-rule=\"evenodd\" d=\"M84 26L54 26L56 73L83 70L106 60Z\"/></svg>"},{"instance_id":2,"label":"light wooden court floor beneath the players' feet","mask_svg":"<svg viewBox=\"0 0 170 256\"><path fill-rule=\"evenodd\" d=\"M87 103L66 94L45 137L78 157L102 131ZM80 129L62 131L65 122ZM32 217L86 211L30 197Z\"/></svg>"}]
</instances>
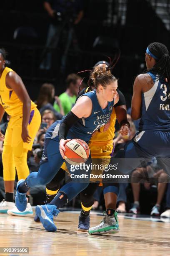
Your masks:
<instances>
[{"instance_id":1,"label":"light wooden court floor beneath the players' feet","mask_svg":"<svg viewBox=\"0 0 170 256\"><path fill-rule=\"evenodd\" d=\"M91 215L91 226L102 216ZM170 255L170 223L119 217L120 233L92 236L77 233L78 214L60 212L57 232L47 232L33 217L0 214L0 247L29 247L29 254L61 256L164 256Z\"/></svg>"}]
</instances>

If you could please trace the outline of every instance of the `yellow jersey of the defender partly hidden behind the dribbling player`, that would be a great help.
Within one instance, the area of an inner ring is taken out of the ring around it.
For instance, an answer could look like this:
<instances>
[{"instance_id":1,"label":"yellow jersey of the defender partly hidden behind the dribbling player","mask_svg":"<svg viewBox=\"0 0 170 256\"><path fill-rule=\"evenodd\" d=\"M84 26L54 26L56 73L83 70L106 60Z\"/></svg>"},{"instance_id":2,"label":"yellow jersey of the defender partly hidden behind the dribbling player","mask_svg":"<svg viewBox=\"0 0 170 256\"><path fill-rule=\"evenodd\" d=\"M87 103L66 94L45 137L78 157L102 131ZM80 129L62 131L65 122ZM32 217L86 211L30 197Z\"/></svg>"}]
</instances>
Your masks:
<instances>
[{"instance_id":1,"label":"yellow jersey of the defender partly hidden behind the dribbling player","mask_svg":"<svg viewBox=\"0 0 170 256\"><path fill-rule=\"evenodd\" d=\"M92 136L91 142L93 141L110 141L115 137L115 121L116 121L116 113L113 108L112 114L110 116L110 126L107 131L103 131L105 126L102 126L100 130L98 130L95 135Z\"/></svg>"}]
</instances>

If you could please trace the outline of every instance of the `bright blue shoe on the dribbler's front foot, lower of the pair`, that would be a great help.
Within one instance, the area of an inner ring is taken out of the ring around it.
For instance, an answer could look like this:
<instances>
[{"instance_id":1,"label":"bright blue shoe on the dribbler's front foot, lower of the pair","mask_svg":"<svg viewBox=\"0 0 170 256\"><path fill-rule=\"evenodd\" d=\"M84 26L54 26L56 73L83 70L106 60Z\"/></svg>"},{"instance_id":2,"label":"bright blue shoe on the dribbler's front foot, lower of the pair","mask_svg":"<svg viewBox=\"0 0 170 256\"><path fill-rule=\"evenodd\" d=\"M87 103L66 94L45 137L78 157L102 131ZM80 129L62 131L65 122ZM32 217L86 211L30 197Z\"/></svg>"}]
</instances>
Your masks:
<instances>
[{"instance_id":1,"label":"bright blue shoe on the dribbler's front foot, lower of the pair","mask_svg":"<svg viewBox=\"0 0 170 256\"><path fill-rule=\"evenodd\" d=\"M55 205L37 205L35 207L35 213L47 231L55 232L57 230L53 217L56 217L60 211L57 210Z\"/></svg>"}]
</instances>

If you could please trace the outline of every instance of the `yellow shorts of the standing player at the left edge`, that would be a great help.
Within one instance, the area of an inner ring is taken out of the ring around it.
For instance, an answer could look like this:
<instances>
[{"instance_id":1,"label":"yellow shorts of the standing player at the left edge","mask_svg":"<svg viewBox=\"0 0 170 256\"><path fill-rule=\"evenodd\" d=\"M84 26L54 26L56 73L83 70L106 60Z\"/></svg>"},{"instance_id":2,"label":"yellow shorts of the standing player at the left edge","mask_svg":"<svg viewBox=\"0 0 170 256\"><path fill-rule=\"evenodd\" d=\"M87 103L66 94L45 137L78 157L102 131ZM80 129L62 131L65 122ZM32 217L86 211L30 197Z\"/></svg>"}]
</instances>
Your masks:
<instances>
[{"instance_id":1,"label":"yellow shorts of the standing player at the left edge","mask_svg":"<svg viewBox=\"0 0 170 256\"><path fill-rule=\"evenodd\" d=\"M16 147L22 141L22 122L23 117L15 116L11 117L7 125L7 130L5 133L4 145ZM23 148L31 150L34 142L34 138L41 124L41 115L37 108L34 108L30 113L30 120L28 124L28 133L32 138L30 143L23 143Z\"/></svg>"}]
</instances>

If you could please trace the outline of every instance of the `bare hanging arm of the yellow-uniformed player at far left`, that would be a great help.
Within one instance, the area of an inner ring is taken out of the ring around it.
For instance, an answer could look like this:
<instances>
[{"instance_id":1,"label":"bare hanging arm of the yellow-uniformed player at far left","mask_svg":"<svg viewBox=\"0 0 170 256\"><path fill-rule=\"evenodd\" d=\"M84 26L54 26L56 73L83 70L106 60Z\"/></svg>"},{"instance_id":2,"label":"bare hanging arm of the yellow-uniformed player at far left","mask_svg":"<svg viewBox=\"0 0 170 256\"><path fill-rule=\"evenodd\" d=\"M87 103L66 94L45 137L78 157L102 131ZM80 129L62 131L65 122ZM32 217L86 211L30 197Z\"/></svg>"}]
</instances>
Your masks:
<instances>
[{"instance_id":1,"label":"bare hanging arm of the yellow-uniformed player at far left","mask_svg":"<svg viewBox=\"0 0 170 256\"><path fill-rule=\"evenodd\" d=\"M28 92L23 84L22 79L15 72L9 72L6 76L6 86L15 91L16 95L23 102L23 123L21 137L23 142L29 143L31 137L28 134L28 122L30 119L31 100Z\"/></svg>"}]
</instances>

